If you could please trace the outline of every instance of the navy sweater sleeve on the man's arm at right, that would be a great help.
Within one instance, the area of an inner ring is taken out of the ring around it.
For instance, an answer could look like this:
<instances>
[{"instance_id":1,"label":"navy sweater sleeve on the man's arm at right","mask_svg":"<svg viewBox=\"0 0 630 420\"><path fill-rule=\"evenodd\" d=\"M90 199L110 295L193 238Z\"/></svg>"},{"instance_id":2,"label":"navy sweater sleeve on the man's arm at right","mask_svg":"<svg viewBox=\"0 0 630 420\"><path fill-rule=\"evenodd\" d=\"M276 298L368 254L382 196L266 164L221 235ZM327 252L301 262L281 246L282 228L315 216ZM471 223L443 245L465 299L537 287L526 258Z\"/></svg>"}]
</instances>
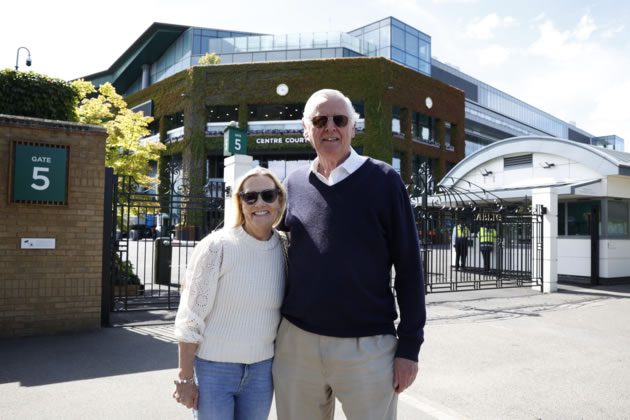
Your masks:
<instances>
[{"instance_id":1,"label":"navy sweater sleeve on the man's arm at right","mask_svg":"<svg viewBox=\"0 0 630 420\"><path fill-rule=\"evenodd\" d=\"M389 187L393 194L393 202L390 206L391 232L388 238L390 255L396 270L394 288L400 310L400 322L396 330L398 348L395 356L417 361L420 346L424 342L426 322L420 244L409 194L400 175L394 172Z\"/></svg>"}]
</instances>

